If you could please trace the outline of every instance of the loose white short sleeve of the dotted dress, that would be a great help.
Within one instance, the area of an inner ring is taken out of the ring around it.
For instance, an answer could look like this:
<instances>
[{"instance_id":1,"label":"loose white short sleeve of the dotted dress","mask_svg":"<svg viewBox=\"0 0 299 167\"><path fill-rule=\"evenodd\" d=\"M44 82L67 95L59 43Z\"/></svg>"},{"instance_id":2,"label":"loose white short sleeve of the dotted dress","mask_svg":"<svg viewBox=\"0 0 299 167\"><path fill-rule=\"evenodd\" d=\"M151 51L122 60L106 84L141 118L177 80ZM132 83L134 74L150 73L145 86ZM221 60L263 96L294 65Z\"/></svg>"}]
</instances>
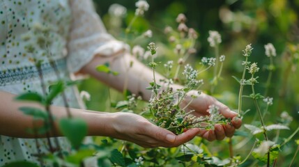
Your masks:
<instances>
[{"instance_id":1,"label":"loose white short sleeve of the dotted dress","mask_svg":"<svg viewBox=\"0 0 299 167\"><path fill-rule=\"evenodd\" d=\"M129 47L107 33L91 0L71 0L72 23L68 40L68 69L77 72L93 56L112 56Z\"/></svg>"}]
</instances>

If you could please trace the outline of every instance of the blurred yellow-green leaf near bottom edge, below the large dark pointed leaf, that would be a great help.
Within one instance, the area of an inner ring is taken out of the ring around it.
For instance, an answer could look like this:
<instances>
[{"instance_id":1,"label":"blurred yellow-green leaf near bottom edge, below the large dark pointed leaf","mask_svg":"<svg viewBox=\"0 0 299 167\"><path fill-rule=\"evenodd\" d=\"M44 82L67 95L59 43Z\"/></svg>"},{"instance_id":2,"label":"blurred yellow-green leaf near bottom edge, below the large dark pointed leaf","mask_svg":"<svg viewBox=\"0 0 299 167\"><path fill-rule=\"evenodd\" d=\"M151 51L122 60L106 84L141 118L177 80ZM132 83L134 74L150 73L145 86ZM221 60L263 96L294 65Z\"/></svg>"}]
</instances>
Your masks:
<instances>
[{"instance_id":1,"label":"blurred yellow-green leaf near bottom edge, below the large dark pointed leaf","mask_svg":"<svg viewBox=\"0 0 299 167\"><path fill-rule=\"evenodd\" d=\"M87 157L92 157L93 154L95 154L95 150L78 150L74 154L70 154L66 157L66 161L72 163L72 164L80 164L84 159Z\"/></svg>"}]
</instances>

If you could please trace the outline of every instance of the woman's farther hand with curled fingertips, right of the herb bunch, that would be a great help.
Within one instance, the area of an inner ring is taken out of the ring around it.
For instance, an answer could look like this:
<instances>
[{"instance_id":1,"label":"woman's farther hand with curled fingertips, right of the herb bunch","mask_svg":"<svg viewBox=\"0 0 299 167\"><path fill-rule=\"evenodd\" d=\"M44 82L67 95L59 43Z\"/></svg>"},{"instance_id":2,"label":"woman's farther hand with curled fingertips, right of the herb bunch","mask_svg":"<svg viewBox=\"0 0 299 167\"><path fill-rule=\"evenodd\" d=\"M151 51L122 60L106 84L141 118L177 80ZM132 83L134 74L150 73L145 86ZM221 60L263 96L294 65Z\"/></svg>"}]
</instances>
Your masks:
<instances>
[{"instance_id":1,"label":"woman's farther hand with curled fingertips, right of the herb bunch","mask_svg":"<svg viewBox=\"0 0 299 167\"><path fill-rule=\"evenodd\" d=\"M197 98L192 100L191 95L196 95ZM215 97L211 97L210 95L206 95L204 93L198 95L197 91L192 90L187 93L181 107L186 106L190 100L192 100L192 102L189 106L187 106L186 112L194 110L194 116L207 116L209 114L208 106L215 104L219 107L220 113L222 113L225 118L231 118L231 125L217 124L215 125L215 130L201 130L201 132L199 132L199 136L206 138L208 141L214 141L215 139L222 140L225 138L225 136L231 137L233 136L235 129L238 129L242 125L242 121L237 117L238 113L231 111L228 106L217 101Z\"/></svg>"}]
</instances>

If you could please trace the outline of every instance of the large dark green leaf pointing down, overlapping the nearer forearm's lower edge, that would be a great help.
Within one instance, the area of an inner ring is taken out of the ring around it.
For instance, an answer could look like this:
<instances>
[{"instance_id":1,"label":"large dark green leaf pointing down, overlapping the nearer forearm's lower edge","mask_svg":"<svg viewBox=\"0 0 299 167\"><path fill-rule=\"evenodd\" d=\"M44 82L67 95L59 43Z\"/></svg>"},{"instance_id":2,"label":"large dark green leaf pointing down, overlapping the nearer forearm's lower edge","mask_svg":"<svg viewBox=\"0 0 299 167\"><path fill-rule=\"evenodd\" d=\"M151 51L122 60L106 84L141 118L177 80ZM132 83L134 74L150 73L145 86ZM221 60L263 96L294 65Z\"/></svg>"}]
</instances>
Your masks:
<instances>
[{"instance_id":1,"label":"large dark green leaf pointing down, overlapping the nearer forearm's lower edge","mask_svg":"<svg viewBox=\"0 0 299 167\"><path fill-rule=\"evenodd\" d=\"M62 118L59 120L59 128L74 148L79 148L87 134L87 124L82 118Z\"/></svg>"}]
</instances>

